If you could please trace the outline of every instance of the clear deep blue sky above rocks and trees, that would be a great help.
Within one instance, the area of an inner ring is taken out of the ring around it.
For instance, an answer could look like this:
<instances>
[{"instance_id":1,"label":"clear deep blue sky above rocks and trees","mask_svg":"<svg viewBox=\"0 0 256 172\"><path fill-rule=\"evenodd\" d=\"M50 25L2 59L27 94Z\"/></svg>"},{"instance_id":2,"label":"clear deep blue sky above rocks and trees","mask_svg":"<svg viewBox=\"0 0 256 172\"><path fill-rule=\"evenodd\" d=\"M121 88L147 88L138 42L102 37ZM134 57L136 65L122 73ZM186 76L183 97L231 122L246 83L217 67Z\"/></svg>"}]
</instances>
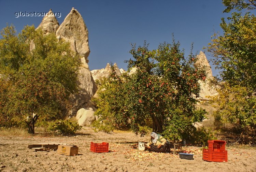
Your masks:
<instances>
[{"instance_id":1,"label":"clear deep blue sky above rocks and trees","mask_svg":"<svg viewBox=\"0 0 256 172\"><path fill-rule=\"evenodd\" d=\"M186 55L194 43L193 52L205 51L203 46L211 41L211 35L219 27L224 14L221 0L0 0L0 28L13 24L17 32L25 25L38 27L43 17L15 17L15 12L60 12L59 24L74 7L82 15L89 31L89 68L101 69L108 62L116 62L127 69L125 60L131 58L130 43L150 44L156 49L159 43L171 42L172 33L180 41ZM205 52L208 59L210 54ZM216 75L218 71L214 70Z\"/></svg>"}]
</instances>

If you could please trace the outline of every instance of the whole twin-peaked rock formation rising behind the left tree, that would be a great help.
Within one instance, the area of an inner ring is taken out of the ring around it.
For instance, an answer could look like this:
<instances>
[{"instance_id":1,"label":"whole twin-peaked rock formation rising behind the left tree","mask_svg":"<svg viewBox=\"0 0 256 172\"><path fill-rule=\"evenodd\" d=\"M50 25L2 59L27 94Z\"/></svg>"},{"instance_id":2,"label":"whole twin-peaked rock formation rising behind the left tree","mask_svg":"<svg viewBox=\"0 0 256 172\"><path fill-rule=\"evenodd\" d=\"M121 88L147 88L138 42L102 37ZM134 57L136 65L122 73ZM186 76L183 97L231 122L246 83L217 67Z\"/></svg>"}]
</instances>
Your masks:
<instances>
[{"instance_id":1,"label":"whole twin-peaked rock formation rising behind the left tree","mask_svg":"<svg viewBox=\"0 0 256 172\"><path fill-rule=\"evenodd\" d=\"M74 102L74 106L69 114L72 116L76 114L77 110L86 106L97 90L88 66L88 56L90 53L88 30L81 14L74 8L71 9L60 26L56 17L51 15L51 13L53 12L50 9L38 28L41 27L44 34L55 33L57 39L64 39L70 42L71 49L82 57L79 68L79 80L77 81L79 92L76 95L71 95L71 101ZM33 44L31 44L31 48L33 48Z\"/></svg>"}]
</instances>

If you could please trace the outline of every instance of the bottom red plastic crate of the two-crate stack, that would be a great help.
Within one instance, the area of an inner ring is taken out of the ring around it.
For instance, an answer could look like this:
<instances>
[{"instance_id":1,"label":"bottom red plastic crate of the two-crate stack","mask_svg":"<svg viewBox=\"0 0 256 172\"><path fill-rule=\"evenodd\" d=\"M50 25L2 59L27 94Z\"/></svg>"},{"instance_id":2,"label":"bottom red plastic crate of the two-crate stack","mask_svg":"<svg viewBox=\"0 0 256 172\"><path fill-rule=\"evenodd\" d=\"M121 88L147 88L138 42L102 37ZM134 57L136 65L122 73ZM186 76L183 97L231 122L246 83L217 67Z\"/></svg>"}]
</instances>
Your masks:
<instances>
[{"instance_id":1,"label":"bottom red plastic crate of the two-crate stack","mask_svg":"<svg viewBox=\"0 0 256 172\"><path fill-rule=\"evenodd\" d=\"M203 149L203 160L209 162L227 162L228 161L228 151L215 152L209 149Z\"/></svg>"}]
</instances>

